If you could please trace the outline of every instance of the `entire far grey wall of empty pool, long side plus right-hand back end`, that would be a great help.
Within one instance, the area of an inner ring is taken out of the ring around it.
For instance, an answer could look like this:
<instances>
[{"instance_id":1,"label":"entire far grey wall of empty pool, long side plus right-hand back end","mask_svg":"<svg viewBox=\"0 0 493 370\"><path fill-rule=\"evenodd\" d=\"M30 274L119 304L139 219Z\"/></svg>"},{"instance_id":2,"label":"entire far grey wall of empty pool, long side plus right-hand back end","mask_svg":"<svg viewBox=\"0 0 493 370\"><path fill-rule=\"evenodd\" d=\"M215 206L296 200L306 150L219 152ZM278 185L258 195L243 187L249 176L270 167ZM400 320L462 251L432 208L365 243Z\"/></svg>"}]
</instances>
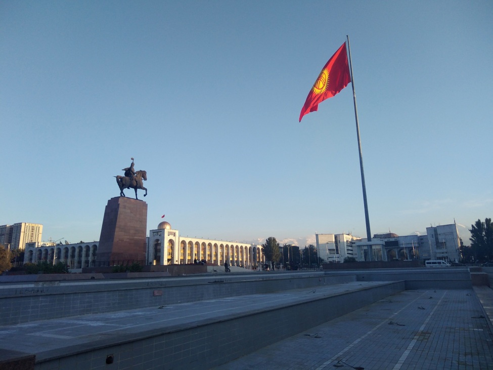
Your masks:
<instances>
[{"instance_id":1,"label":"entire far grey wall of empty pool, long side plus right-hand back end","mask_svg":"<svg viewBox=\"0 0 493 370\"><path fill-rule=\"evenodd\" d=\"M75 274L58 275L58 280L54 275L4 276L2 278L8 278L10 282L4 280L0 284L0 325L280 292L356 280L405 280L407 290L472 289L467 268L151 277L158 274L163 273L122 273L121 278L112 279L108 279L107 274L80 275L89 280L69 280L77 276ZM130 279L128 276L135 277ZM35 280L25 280L29 278Z\"/></svg>"}]
</instances>

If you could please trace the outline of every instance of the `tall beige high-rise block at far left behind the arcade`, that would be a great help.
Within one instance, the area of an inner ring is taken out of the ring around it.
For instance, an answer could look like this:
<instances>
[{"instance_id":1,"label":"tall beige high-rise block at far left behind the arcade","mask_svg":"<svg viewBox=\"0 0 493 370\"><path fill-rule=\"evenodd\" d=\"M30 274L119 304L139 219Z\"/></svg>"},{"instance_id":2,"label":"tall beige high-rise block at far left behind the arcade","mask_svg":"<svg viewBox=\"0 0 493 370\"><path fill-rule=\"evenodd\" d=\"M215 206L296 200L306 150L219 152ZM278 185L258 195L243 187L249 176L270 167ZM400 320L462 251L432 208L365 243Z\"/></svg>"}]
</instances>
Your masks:
<instances>
[{"instance_id":1,"label":"tall beige high-rise block at far left behind the arcade","mask_svg":"<svg viewBox=\"0 0 493 370\"><path fill-rule=\"evenodd\" d=\"M10 250L23 250L26 243L41 242L43 225L18 222L13 225L0 225L0 244Z\"/></svg>"}]
</instances>

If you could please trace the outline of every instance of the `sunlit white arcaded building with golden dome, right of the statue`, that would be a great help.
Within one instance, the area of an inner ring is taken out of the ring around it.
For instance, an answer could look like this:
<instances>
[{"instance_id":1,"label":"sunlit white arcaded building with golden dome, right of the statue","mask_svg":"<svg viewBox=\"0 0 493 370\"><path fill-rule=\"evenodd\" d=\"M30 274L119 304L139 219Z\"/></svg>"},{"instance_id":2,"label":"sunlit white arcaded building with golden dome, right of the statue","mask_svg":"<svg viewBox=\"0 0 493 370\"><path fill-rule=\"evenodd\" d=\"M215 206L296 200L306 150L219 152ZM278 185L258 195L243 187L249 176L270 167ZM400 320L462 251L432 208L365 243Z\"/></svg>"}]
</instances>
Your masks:
<instances>
[{"instance_id":1,"label":"sunlit white arcaded building with golden dome, right of the statue","mask_svg":"<svg viewBox=\"0 0 493 370\"><path fill-rule=\"evenodd\" d=\"M171 265L192 264L207 261L209 264L232 266L247 269L265 263L262 245L181 237L178 230L163 221L157 229L149 231L147 239L147 264Z\"/></svg>"}]
</instances>

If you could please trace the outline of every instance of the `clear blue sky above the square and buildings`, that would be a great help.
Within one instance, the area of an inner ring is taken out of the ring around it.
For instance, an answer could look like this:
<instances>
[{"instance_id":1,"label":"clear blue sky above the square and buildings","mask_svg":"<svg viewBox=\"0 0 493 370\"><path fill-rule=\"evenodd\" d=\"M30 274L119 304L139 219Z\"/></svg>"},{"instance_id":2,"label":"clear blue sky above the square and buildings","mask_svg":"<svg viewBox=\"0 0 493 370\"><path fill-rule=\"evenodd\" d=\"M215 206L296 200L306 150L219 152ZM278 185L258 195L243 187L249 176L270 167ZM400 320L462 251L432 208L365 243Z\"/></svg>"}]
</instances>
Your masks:
<instances>
[{"instance_id":1,"label":"clear blue sky above the square and buildings","mask_svg":"<svg viewBox=\"0 0 493 370\"><path fill-rule=\"evenodd\" d=\"M0 224L99 240L135 157L148 229L165 214L221 240L365 237L351 84L298 122L347 34L372 234L455 219L468 244L493 216L491 14L490 1L2 2Z\"/></svg>"}]
</instances>

